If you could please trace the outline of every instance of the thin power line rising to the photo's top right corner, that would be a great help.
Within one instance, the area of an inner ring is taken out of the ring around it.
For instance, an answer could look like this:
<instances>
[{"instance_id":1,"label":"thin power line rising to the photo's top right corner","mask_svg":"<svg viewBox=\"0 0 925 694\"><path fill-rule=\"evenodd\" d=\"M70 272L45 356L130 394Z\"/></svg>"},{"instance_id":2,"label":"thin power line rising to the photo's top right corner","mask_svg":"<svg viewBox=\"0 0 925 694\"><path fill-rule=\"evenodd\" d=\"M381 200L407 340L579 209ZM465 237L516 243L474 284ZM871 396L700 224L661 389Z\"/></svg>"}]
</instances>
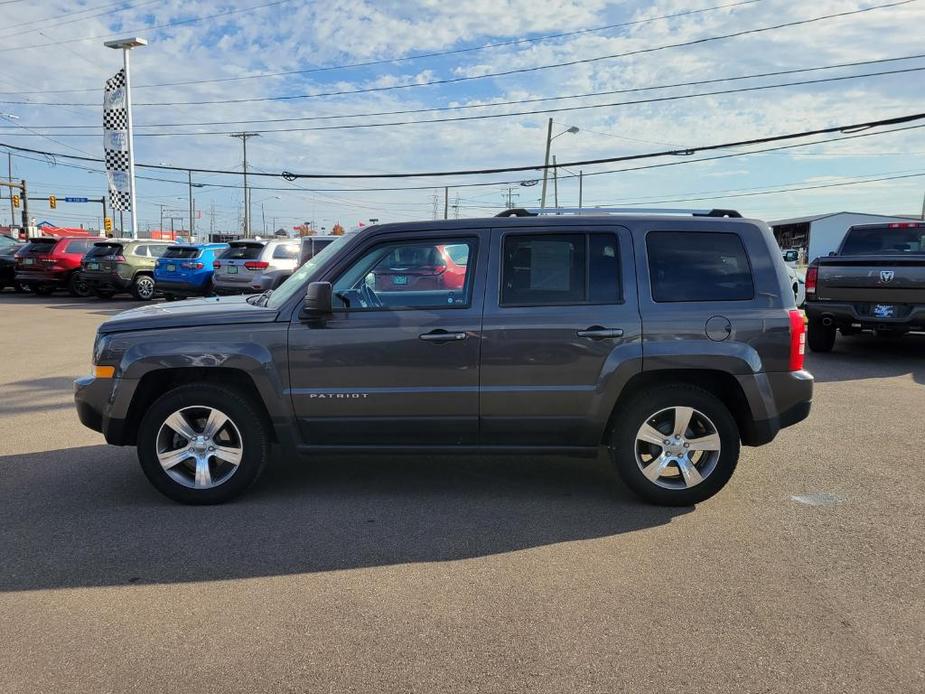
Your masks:
<instances>
[{"instance_id":1,"label":"thin power line rising to the photo's top right corner","mask_svg":"<svg viewBox=\"0 0 925 694\"><path fill-rule=\"evenodd\" d=\"M664 44L661 46L650 46L648 48L640 48L633 51L626 51L623 53L613 53L603 56L594 56L591 58L580 58L576 60L569 60L560 63L551 63L547 65L537 65L534 67L527 68L514 68L510 70L502 70L499 72L490 72L481 75L469 75L464 77L452 77L440 80L431 80L429 82L414 82L410 84L396 84L388 85L383 87L367 87L364 89L352 89L352 90L342 90L334 92L319 92L315 94L289 94L282 96L269 96L269 97L248 97L242 99L210 99L210 100L201 100L201 101L149 101L149 102L138 102L137 106L192 106L192 105L209 105L209 104L240 104L240 103L256 103L256 102L266 102L266 101L289 101L294 99L313 99L318 97L328 97L328 96L343 96L347 94L367 94L372 92L383 92L383 91L392 91L396 89L414 89L418 87L430 87L435 85L446 85L446 84L458 84L461 82L470 82L474 80L483 80L490 79L494 77L507 77L510 75L518 75L524 73L538 72L542 70L549 70L553 68L561 67L572 67L575 65L584 65L588 63L599 62L602 60L612 60L616 58L625 58L628 56L642 55L646 53L655 53L657 51L664 51L672 48L683 48L687 46L696 46L705 43L711 43L714 41L722 41L725 39L738 38L741 36L747 36L751 34L758 34L762 32L775 31L778 29L785 29L794 26L802 26L806 24L812 24L815 22L821 22L829 19L837 19L840 17L847 17L851 15L862 14L865 12L872 12L874 10L885 9L890 7L898 7L901 5L908 5L913 2L918 2L919 0L896 0L895 2L873 5L870 7L864 7L857 10L848 10L844 12L836 12L832 14L820 15L817 17L810 17L809 19L800 19L794 20L791 22L783 22L780 24L773 24L770 26L758 27L754 29L745 29L742 31L736 31L729 34L719 34L715 36L707 36L700 39L693 39L691 41L682 41L678 43ZM8 49L0 49L0 52ZM28 104L35 106L93 106L96 107L98 104L88 104L85 102L78 103L53 103L53 102L35 102L35 101L9 101L9 100L0 100L0 103L5 104Z\"/></svg>"}]
</instances>

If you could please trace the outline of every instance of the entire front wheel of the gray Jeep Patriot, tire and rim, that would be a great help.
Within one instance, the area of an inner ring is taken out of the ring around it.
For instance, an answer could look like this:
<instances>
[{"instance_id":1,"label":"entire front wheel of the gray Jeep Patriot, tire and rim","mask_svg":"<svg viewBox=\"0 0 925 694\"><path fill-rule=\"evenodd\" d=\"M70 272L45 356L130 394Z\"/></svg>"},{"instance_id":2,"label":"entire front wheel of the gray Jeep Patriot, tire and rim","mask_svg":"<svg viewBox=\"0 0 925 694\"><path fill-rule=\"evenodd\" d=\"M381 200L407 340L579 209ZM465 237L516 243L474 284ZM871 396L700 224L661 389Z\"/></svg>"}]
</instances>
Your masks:
<instances>
[{"instance_id":1,"label":"entire front wheel of the gray Jeep Patriot, tire and rim","mask_svg":"<svg viewBox=\"0 0 925 694\"><path fill-rule=\"evenodd\" d=\"M161 396L138 430L138 460L165 496L217 504L242 493L266 464L264 419L236 390L194 384Z\"/></svg>"}]
</instances>

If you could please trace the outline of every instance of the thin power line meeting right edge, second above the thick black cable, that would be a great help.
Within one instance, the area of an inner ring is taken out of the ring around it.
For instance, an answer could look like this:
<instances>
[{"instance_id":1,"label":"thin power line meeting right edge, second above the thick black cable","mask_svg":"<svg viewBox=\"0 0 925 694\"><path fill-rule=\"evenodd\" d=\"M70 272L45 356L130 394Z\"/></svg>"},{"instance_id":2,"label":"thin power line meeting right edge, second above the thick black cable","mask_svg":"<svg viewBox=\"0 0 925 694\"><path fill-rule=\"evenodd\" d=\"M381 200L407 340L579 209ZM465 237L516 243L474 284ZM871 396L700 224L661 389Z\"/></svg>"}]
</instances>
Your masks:
<instances>
[{"instance_id":1,"label":"thin power line meeting right edge, second above the thick black cable","mask_svg":"<svg viewBox=\"0 0 925 694\"><path fill-rule=\"evenodd\" d=\"M803 73L803 72L819 72L820 70L835 70L835 69L846 68L846 67L859 67L862 65L876 65L876 64L883 64L883 63L900 62L900 61L905 61L905 60L917 60L919 58L925 58L925 53L918 53L915 55L907 55L907 56L899 56L895 58L877 58L873 60L861 60L861 61L855 61L851 63L835 63L832 65L817 65L817 66L805 67L805 68L775 70L773 72L759 72L759 73L754 73L751 75L736 75L734 77L716 77L716 78L710 78L710 79L691 80L687 82L674 82L671 84L660 84L660 85L653 85L649 87L609 89L606 91L586 92L584 94L569 94L569 95L561 95L561 96L537 97L537 98L532 98L532 99L514 99L510 101L496 101L496 102L488 103L488 104L465 104L462 106L439 106L439 107L430 107L430 108L404 109L404 110L399 110L399 111L379 111L379 112L372 112L372 113L366 112L366 113L345 113L345 114L331 114L331 115L319 115L319 116L296 116L296 117L291 117L291 118L258 118L258 119L252 119L252 120L200 121L200 122L187 122L187 123L147 123L147 124L139 124L139 125L136 125L135 127L136 128L180 128L180 127L200 127L200 126L207 126L207 125L250 125L253 123L287 123L287 122L305 122L305 121L317 121L317 120L340 120L340 119L347 119L347 118L364 118L364 117L372 118L376 116L393 116L393 115L406 115L406 114L415 114L415 113L441 113L441 112L447 112L447 111L470 110L474 108L482 109L482 108L492 108L496 106L533 104L533 103L540 103L544 101L563 101L566 99L584 99L584 98L589 98L592 96L607 96L611 94L629 94L629 93L638 93L638 92L648 92L648 91L657 91L661 89L675 89L678 87L694 87L694 86L705 85L705 84L717 84L720 82L737 82L737 81L742 81L742 80L759 79L759 78L764 78L764 77L778 77L781 75L792 75L792 74L798 74L798 73ZM875 73L867 73L867 74L860 74L860 75L848 75L848 76L843 76L843 77L833 78L833 79L856 79L859 77L870 77L870 76L877 76L877 75L882 75L882 74L893 74L893 73L892 72L875 72ZM811 82L811 83L815 83L815 82ZM800 83L793 83L793 84L800 84ZM770 86L773 87L774 85L770 85ZM785 86L790 86L790 83L788 83ZM769 88L769 87L753 87L750 89L762 89L762 88ZM688 95L687 97L683 97L683 98L690 98L690 96L697 96L697 95ZM678 97L678 98L681 98L681 97ZM636 102L628 102L628 103L636 103ZM600 107L610 106L610 105L612 104L592 104L592 105L584 106L583 108L600 108ZM572 109L566 109L566 110L572 110ZM537 111L537 112L531 111L530 113L545 113L545 111ZM511 115L521 115L521 114L511 114ZM428 122L428 121L423 121L423 122ZM60 129L60 130L88 130L88 129L100 130L101 129L100 126L98 125L70 125L70 124L58 124L58 125L49 124L49 125L45 125L42 127L46 129ZM2 128L0 128L0 130L2 130ZM594 132L594 131L587 130L586 128L583 128L583 130L586 130L587 132ZM275 132L275 131L268 131L268 132ZM196 134L208 134L208 133L196 133ZM614 137L613 135L610 135L609 133L598 133L598 134ZM632 139L632 138L622 138L622 139ZM648 142L645 140L640 140L640 142L647 142L647 144L664 144L664 143Z\"/></svg>"}]
</instances>

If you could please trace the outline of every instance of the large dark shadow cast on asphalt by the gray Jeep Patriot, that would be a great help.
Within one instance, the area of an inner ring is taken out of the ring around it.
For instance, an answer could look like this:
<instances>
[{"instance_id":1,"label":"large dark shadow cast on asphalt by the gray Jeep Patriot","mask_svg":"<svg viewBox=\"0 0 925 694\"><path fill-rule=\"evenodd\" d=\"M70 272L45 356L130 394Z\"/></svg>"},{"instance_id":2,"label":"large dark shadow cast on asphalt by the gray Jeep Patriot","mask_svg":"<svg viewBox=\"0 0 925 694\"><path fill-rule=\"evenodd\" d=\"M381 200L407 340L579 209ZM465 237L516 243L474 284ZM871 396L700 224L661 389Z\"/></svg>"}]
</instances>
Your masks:
<instances>
[{"instance_id":1,"label":"large dark shadow cast on asphalt by the gray Jeep Patriot","mask_svg":"<svg viewBox=\"0 0 925 694\"><path fill-rule=\"evenodd\" d=\"M0 498L0 591L451 561L692 510L638 502L603 458L461 456L278 460L240 500L189 507L110 446L0 457Z\"/></svg>"}]
</instances>

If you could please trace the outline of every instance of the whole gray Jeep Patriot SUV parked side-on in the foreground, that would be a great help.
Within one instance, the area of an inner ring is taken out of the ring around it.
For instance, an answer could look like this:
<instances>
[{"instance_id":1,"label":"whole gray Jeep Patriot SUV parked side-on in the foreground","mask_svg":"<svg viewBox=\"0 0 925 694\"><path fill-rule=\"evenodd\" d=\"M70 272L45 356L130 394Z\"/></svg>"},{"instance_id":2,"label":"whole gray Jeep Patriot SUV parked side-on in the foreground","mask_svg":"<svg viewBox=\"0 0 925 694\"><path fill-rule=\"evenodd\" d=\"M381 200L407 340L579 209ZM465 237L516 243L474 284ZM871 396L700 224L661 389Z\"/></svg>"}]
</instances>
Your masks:
<instances>
[{"instance_id":1,"label":"whole gray Jeep Patriot SUV parked side-on in the foreground","mask_svg":"<svg viewBox=\"0 0 925 694\"><path fill-rule=\"evenodd\" d=\"M81 421L162 493L216 503L290 454L606 446L654 503L729 480L809 414L804 319L763 222L593 210L384 224L273 292L103 323Z\"/></svg>"}]
</instances>

